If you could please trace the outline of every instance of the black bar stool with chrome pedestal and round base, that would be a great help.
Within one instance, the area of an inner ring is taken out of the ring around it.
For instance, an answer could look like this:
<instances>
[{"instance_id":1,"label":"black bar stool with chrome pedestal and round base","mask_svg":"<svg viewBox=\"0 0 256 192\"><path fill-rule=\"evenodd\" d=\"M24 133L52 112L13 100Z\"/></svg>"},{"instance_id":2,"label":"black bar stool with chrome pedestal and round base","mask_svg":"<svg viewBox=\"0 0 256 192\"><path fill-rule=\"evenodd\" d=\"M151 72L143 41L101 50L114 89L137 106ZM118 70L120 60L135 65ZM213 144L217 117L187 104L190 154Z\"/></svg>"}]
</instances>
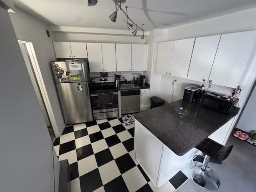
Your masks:
<instances>
[{"instance_id":1,"label":"black bar stool with chrome pedestal and round base","mask_svg":"<svg viewBox=\"0 0 256 192\"><path fill-rule=\"evenodd\" d=\"M187 172L190 178L192 178L198 185L208 190L218 189L220 180L214 171L208 167L208 163L210 158L217 162L225 160L230 154L233 145L223 146L214 140L206 138L195 148L200 150L205 156L203 163L194 160L196 156L199 156L196 155L193 157L193 160L187 164Z\"/></svg>"}]
</instances>

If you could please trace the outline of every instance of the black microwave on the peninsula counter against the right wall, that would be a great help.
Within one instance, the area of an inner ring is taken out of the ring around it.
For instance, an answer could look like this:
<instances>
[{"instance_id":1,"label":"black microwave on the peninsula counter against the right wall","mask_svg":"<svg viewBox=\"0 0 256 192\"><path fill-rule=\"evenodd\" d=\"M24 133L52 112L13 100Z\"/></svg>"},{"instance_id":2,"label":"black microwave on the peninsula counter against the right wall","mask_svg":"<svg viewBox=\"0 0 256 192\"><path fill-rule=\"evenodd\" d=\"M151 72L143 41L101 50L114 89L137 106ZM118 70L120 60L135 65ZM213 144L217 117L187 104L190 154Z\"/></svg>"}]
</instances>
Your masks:
<instances>
[{"instance_id":1,"label":"black microwave on the peninsula counter against the right wall","mask_svg":"<svg viewBox=\"0 0 256 192\"><path fill-rule=\"evenodd\" d=\"M205 94L202 94L200 100L201 105L225 115L230 113L232 108L236 106L237 102L238 98L221 96L221 94L213 92L206 92Z\"/></svg>"}]
</instances>

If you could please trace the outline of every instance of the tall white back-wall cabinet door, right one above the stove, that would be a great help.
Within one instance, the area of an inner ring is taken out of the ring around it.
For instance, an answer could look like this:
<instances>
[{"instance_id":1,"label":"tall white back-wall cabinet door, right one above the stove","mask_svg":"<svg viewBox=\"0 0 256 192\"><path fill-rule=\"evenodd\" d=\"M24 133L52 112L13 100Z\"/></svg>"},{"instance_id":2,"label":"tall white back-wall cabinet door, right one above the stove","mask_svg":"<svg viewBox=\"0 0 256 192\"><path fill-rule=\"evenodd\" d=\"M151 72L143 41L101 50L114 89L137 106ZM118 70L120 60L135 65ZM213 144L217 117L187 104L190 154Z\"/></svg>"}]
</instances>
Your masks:
<instances>
[{"instance_id":1,"label":"tall white back-wall cabinet door, right one above the stove","mask_svg":"<svg viewBox=\"0 0 256 192\"><path fill-rule=\"evenodd\" d=\"M104 72L116 71L116 44L102 43L101 49Z\"/></svg>"}]
</instances>

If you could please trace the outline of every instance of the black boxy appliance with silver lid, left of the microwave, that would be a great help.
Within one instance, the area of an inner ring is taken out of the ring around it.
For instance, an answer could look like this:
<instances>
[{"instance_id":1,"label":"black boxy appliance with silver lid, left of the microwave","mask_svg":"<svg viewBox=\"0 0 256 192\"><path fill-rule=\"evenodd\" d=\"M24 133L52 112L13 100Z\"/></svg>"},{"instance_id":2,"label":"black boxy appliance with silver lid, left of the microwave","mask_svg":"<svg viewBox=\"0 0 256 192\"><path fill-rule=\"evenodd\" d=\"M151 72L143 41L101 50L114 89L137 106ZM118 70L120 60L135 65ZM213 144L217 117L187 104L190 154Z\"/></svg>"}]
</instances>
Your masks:
<instances>
[{"instance_id":1,"label":"black boxy appliance with silver lid, left of the microwave","mask_svg":"<svg viewBox=\"0 0 256 192\"><path fill-rule=\"evenodd\" d=\"M201 86L200 85L188 85L185 87L183 100L189 103L196 102L197 98L201 96Z\"/></svg>"}]
</instances>

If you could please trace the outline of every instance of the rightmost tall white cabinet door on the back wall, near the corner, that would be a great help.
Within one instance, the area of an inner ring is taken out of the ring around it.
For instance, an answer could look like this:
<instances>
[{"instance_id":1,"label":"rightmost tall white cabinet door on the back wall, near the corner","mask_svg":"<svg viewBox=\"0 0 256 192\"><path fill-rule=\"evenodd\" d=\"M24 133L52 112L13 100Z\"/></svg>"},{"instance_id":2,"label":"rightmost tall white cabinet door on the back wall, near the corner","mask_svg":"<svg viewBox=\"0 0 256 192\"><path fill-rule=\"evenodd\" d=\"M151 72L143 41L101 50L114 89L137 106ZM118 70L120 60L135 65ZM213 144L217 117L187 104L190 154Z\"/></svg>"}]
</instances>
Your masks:
<instances>
[{"instance_id":1,"label":"rightmost tall white cabinet door on the back wall, near the corner","mask_svg":"<svg viewBox=\"0 0 256 192\"><path fill-rule=\"evenodd\" d=\"M132 44L132 71L146 71L148 45Z\"/></svg>"}]
</instances>

